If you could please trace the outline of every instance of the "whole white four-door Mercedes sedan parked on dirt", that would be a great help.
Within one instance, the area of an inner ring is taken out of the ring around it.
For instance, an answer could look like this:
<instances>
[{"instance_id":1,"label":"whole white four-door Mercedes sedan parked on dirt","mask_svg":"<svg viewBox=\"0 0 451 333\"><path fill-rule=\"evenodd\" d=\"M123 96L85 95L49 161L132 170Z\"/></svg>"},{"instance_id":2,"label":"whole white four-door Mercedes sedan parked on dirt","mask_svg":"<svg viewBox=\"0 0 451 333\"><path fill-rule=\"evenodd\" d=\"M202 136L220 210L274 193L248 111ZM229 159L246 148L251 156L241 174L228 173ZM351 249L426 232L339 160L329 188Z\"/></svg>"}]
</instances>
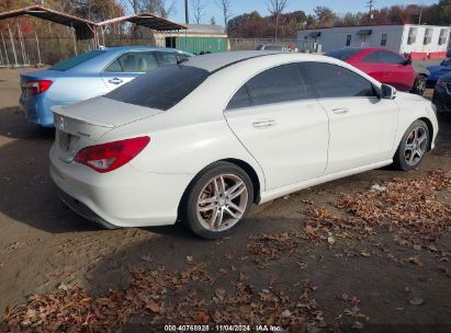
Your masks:
<instances>
[{"instance_id":1,"label":"whole white four-door Mercedes sedan parked on dirt","mask_svg":"<svg viewBox=\"0 0 451 333\"><path fill-rule=\"evenodd\" d=\"M413 170L438 131L420 96L340 60L268 51L190 58L54 112L50 174L69 207L112 228L180 219L207 239L252 203Z\"/></svg>"}]
</instances>

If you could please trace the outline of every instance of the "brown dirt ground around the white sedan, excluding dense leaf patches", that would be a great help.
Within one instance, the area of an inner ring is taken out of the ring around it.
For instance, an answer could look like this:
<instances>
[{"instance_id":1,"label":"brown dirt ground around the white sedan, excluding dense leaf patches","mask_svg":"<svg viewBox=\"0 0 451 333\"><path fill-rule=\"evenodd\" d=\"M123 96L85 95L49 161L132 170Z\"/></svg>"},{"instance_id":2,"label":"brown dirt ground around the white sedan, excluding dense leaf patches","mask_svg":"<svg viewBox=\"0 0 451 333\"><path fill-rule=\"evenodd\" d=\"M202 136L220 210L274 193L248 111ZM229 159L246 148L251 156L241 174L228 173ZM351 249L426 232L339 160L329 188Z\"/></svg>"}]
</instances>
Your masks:
<instances>
[{"instance_id":1,"label":"brown dirt ground around the white sedan, excluding dense leaf patches","mask_svg":"<svg viewBox=\"0 0 451 333\"><path fill-rule=\"evenodd\" d=\"M179 225L103 230L65 207L48 174L54 131L24 120L16 106L18 74L19 70L0 71L1 312L7 307L26 303L32 295L59 292L74 285L90 297L124 290L131 282L131 271L136 268L182 272L193 263L204 263L205 271L215 276L211 284L189 285L180 292L196 290L206 299L215 299L208 311L218 307L218 287L233 292L235 285L230 280L246 280L249 288L263 290L262 295L278 289L289 297L300 295L301 285L305 288L303 284L308 282L315 311L306 310L307 317L316 315L312 320L320 323L317 329L308 326L309 332L319 332L326 325L325 330L342 331L451 332L450 216L444 221L448 229L440 229L444 230L441 237L427 240L422 246L395 241L396 226L374 230L365 227L371 236L362 239L334 237L330 232L323 241L298 238L291 248L296 256L287 252L285 241L287 234L290 238L309 219L306 211L312 205L346 218L351 213L335 204L341 194L352 198L373 184L394 177L415 181L427 177L431 171L450 171L451 115L440 117L438 147L419 170L399 173L380 169L305 190L255 207L250 218L229 239L203 241ZM440 192L437 199L449 209L449 192ZM280 248L268 252L263 245L259 248L261 244ZM436 248L440 251L430 250ZM185 295L177 292L172 295L176 302L177 295L180 299ZM278 312L279 307L283 310L283 303L278 302L272 311ZM190 307L190 301L184 306ZM211 318L213 312L207 312ZM289 318L294 312L285 310L281 315ZM136 332L147 326L153 314L140 320L133 318L128 323L134 324L123 326L124 331ZM192 321L187 315L179 320L183 322ZM156 326L146 329L153 331L151 328Z\"/></svg>"}]
</instances>

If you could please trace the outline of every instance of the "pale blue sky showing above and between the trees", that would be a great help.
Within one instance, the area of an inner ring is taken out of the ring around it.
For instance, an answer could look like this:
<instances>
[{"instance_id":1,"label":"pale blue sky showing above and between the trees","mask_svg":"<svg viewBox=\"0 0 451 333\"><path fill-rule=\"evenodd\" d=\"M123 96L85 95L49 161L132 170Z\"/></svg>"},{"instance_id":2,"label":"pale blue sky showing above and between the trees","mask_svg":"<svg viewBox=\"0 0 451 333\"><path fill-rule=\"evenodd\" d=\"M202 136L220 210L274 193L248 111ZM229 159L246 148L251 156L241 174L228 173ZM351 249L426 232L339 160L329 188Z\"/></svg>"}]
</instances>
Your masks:
<instances>
[{"instance_id":1,"label":"pale blue sky showing above and between the trees","mask_svg":"<svg viewBox=\"0 0 451 333\"><path fill-rule=\"evenodd\" d=\"M167 0L169 3L171 0ZM176 22L184 22L184 0L173 0L176 3L177 13L172 15L170 19ZM191 3L191 0L189 0ZM216 23L223 23L223 15L221 14L221 10L216 5L217 0L204 0L207 2L205 8L205 15L202 18L201 23L210 23L212 16L215 16ZM289 5L285 12L293 12L296 10L303 10L306 13L312 13L313 9L317 5L325 5L337 13L346 13L350 12L359 12L359 11L367 11L368 8L367 2L368 0L316 0L316 1L307 1L307 0L287 0ZM437 3L438 1L433 0L374 0L375 8L383 8L390 7L393 4L432 4ZM249 13L253 10L257 10L261 15L267 15L268 10L264 0L232 0L232 13L234 15L239 15L243 13ZM192 8L190 7L190 23L193 23L193 14Z\"/></svg>"}]
</instances>

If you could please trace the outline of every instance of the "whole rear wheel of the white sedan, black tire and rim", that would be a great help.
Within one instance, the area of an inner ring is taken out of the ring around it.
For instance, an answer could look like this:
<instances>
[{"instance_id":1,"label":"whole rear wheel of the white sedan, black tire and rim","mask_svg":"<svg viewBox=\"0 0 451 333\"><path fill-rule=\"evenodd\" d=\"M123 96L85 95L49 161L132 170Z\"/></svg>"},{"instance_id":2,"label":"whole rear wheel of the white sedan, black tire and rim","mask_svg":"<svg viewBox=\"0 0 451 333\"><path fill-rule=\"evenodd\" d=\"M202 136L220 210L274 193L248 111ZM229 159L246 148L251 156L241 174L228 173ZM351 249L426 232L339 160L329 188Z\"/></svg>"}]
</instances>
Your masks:
<instances>
[{"instance_id":1,"label":"whole rear wheel of the white sedan, black tire and rim","mask_svg":"<svg viewBox=\"0 0 451 333\"><path fill-rule=\"evenodd\" d=\"M249 175L235 164L216 162L192 181L182 218L201 238L223 238L245 220L252 199Z\"/></svg>"}]
</instances>

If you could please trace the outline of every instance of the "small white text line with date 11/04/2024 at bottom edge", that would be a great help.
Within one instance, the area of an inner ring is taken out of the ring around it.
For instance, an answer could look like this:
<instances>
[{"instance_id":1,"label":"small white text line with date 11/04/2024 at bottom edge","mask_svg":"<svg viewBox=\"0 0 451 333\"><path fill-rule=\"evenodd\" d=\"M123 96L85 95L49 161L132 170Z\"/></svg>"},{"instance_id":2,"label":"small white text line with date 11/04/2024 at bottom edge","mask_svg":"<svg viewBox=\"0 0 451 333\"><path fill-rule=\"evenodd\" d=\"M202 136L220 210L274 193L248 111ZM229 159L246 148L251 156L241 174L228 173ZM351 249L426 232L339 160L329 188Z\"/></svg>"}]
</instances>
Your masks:
<instances>
[{"instance_id":1,"label":"small white text line with date 11/04/2024 at bottom edge","mask_svg":"<svg viewBox=\"0 0 451 333\"><path fill-rule=\"evenodd\" d=\"M281 332L275 325L165 325L165 332Z\"/></svg>"}]
</instances>

